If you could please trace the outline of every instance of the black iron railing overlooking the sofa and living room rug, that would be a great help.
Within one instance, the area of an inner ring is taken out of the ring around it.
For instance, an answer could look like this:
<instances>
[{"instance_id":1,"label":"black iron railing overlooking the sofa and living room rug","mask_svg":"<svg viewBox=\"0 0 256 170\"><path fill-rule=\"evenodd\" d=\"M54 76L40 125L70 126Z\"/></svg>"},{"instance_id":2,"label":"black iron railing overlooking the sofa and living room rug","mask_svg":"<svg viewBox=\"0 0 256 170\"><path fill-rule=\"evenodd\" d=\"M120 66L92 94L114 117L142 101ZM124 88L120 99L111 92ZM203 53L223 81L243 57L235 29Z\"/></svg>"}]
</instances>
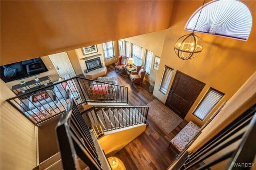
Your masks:
<instances>
[{"instance_id":1,"label":"black iron railing overlooking the sofa and living room rug","mask_svg":"<svg viewBox=\"0 0 256 170\"><path fill-rule=\"evenodd\" d=\"M117 84L73 77L7 100L35 125L63 113L70 98L79 106L87 102L128 104L128 88Z\"/></svg>"}]
</instances>

